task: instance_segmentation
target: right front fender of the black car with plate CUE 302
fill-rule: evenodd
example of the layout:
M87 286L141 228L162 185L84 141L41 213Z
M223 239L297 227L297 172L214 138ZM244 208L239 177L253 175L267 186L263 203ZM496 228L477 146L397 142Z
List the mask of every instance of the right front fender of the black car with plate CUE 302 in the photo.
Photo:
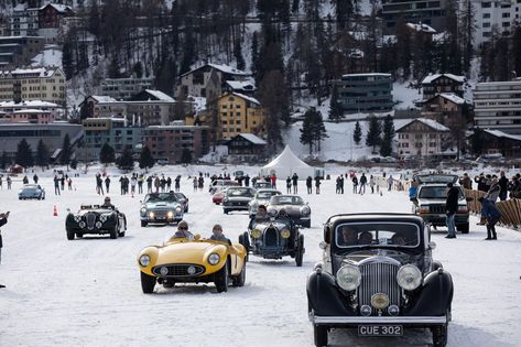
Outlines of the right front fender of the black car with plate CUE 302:
M451 274L437 269L428 273L417 297L412 305L404 311L411 316L442 316L451 307L454 294L453 279Z

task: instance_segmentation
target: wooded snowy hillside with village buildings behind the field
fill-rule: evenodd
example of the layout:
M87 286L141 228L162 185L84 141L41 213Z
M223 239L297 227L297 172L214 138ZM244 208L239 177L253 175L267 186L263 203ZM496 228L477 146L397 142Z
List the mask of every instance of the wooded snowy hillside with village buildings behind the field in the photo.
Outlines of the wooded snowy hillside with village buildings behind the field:
M2 167L521 153L519 0L6 2Z

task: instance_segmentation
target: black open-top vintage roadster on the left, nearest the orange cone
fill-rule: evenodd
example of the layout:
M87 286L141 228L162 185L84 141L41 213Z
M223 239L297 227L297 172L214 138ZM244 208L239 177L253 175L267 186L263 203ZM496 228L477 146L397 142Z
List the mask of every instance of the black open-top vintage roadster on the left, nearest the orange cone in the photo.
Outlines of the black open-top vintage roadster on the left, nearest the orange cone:
M127 230L124 214L110 207L82 205L76 214L68 213L65 219L67 239L83 237L85 234L110 235L111 239L123 237Z

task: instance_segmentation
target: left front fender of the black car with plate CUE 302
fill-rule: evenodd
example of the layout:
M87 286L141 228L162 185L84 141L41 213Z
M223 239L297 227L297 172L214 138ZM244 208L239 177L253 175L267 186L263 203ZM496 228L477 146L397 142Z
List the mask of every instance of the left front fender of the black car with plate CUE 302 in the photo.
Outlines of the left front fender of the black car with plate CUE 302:
M307 276L307 302L318 316L352 316L355 310L336 285L335 276L324 271L313 271Z

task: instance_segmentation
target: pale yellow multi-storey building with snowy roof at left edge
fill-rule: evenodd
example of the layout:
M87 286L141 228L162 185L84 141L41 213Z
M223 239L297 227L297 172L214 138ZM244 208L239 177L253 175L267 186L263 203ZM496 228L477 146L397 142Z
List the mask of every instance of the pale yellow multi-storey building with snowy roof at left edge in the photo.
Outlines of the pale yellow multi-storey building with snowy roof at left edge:
M42 100L65 105L65 74L56 68L0 72L0 101Z

